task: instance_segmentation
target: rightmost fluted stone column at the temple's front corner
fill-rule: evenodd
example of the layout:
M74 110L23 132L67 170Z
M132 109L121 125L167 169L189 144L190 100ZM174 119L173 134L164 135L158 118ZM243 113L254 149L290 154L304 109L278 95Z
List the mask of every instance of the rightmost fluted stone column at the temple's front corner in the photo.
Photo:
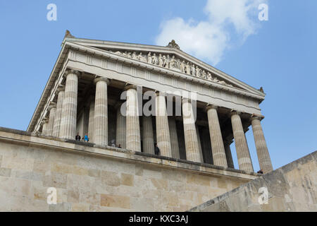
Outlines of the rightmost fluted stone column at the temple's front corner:
M251 124L254 135L254 142L256 144L256 153L259 158L260 168L264 173L271 172L273 170L270 154L268 153L268 147L266 146L266 139L264 138L263 129L261 126L261 119L263 117L252 116Z

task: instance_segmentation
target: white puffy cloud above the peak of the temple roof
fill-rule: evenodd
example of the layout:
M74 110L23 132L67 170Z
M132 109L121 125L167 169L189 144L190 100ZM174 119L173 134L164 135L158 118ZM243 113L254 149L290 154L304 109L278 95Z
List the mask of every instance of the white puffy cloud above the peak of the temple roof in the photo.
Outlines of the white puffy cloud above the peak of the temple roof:
M266 0L208 0L204 8L206 21L185 21L179 17L165 20L156 44L164 46L173 39L183 51L216 65L234 44L232 40L242 44L256 32L257 8L261 3Z

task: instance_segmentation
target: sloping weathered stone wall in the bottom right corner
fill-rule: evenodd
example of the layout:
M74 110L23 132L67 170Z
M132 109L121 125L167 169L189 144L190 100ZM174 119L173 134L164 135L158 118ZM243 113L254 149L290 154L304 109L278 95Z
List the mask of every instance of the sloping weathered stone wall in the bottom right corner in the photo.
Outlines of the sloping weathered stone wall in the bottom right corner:
M259 203L261 187L267 188L267 204ZM190 211L317 211L317 151Z

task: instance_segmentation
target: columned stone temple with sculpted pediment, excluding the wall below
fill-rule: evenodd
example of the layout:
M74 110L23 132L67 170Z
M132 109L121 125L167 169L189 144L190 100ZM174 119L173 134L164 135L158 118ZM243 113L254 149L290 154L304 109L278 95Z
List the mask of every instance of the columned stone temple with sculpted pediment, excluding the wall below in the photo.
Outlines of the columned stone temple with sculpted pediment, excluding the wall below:
M87 134L95 145L149 154L157 143L162 156L253 172L245 136L251 126L260 168L273 170L261 127L262 88L182 52L174 40L160 47L66 32L62 46L27 131L68 140ZM149 91L154 95L144 98ZM147 99L156 114L142 114Z

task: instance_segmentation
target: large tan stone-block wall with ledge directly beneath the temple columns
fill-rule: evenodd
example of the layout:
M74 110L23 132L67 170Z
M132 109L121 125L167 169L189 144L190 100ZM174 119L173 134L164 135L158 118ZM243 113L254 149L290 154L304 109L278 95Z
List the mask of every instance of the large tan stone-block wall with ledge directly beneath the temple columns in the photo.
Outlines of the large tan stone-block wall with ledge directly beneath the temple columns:
M0 211L184 211L257 177L0 127Z

